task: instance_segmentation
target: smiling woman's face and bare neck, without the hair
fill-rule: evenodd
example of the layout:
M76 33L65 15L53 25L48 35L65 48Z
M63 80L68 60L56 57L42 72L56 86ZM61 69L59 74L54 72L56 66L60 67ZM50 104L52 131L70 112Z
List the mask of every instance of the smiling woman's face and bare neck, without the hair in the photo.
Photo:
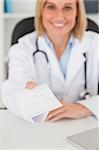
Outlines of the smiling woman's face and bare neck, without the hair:
M56 54L59 52L59 48L60 52L63 53L61 46L64 50L67 45L76 22L76 7L75 0L71 0L71 2L48 0L44 6L42 24L54 45ZM60 56L58 57L60 58Z

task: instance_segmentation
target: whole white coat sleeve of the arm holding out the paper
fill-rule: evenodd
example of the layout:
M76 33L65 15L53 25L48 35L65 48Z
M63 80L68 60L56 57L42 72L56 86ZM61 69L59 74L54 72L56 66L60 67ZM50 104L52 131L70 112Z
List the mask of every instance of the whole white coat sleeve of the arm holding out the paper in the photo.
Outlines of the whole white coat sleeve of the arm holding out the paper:
M9 52L8 80L2 85L2 99L7 109L17 116L31 121L27 118L27 112L21 114L17 105L18 91L25 87L27 81L36 80L35 68L32 58L32 50L23 44L16 44Z

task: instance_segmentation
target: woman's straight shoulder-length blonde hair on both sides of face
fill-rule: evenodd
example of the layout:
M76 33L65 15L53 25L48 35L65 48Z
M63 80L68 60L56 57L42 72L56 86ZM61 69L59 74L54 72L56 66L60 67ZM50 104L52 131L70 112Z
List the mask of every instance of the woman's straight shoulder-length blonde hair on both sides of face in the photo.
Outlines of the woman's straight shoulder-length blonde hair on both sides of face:
M45 34L45 29L42 23L42 12L46 0L37 0L36 2L36 16L35 16L35 29L38 36L43 36ZM77 18L76 24L73 28L73 35L79 40L82 39L84 31L86 30L87 20L85 14L85 7L83 0L77 0Z

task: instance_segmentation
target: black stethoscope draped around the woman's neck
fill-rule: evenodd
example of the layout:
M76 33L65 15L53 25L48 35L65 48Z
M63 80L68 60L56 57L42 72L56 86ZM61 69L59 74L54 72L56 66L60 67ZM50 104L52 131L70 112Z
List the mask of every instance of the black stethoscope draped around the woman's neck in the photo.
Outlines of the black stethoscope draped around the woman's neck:
M35 56L36 56L37 53L43 54L45 59L46 59L47 64L49 63L49 59L48 59L48 56L47 56L46 52L39 49L38 37L36 38L36 51L33 52L34 64L36 63L36 57ZM80 93L80 99L87 99L91 95L90 95L90 93L87 90L87 61L86 61L87 58L86 58L86 53L84 53L83 55L85 57L85 62L84 62L84 90Z

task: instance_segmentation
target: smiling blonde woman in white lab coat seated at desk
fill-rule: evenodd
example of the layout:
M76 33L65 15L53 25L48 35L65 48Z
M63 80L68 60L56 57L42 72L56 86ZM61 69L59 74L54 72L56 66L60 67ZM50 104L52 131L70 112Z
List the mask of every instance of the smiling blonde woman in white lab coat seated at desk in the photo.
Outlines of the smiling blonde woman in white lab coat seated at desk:
M47 120L98 118L99 35L85 31L83 0L37 0L35 27L36 32L22 37L10 50L6 106L20 115L11 84L34 88L47 83L63 103ZM36 44L45 54L35 54ZM91 97L81 98L86 88Z

